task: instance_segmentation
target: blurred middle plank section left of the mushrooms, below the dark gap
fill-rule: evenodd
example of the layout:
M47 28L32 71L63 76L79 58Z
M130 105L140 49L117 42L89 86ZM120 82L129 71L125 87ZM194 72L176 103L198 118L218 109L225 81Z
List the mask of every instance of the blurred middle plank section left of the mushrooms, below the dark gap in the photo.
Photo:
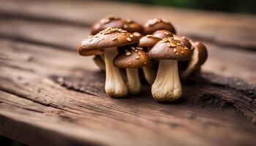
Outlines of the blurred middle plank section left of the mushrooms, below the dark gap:
M13 18L0 18L0 21L1 38L66 50L76 50L81 39L89 36L88 28Z

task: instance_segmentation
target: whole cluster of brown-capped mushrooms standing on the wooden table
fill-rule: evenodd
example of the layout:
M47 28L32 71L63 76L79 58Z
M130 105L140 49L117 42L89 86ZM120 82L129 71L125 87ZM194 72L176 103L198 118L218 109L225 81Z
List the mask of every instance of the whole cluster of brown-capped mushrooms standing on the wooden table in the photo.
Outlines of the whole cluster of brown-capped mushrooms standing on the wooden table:
M158 101L176 101L182 95L181 79L200 69L208 54L201 42L176 34L167 20L154 18L144 26L133 20L108 16L91 26L91 36L78 47L80 55L95 55L94 62L105 70L105 92L114 97L138 94L138 69L151 85ZM125 69L127 82L120 70Z

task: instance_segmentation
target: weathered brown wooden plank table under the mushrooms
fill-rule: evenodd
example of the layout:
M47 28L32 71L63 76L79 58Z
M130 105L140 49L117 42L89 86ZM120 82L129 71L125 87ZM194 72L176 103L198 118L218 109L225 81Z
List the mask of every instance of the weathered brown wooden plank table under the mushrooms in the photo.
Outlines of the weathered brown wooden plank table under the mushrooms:
M256 17L105 1L0 2L0 135L28 145L255 145ZM202 75L181 101L105 95L76 47L108 14L167 18L202 41Z

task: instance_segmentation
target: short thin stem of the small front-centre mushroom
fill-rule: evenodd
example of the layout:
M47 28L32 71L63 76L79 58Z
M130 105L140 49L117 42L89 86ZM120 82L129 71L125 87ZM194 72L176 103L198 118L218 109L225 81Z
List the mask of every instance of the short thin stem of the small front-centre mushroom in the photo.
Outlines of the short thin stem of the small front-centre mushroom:
M127 87L131 94L140 93L141 84L138 69L127 68Z

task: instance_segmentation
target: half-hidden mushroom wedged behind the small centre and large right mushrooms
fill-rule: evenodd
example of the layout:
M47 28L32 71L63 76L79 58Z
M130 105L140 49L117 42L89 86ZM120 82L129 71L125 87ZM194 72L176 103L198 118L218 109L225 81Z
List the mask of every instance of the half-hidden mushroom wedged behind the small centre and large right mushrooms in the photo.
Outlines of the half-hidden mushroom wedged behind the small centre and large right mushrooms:
M147 50L151 50L151 47L157 44L161 39L154 37L153 35L146 35L140 39L138 47L147 47ZM148 84L152 85L156 78L157 72L151 66L143 66L143 74L145 75Z

